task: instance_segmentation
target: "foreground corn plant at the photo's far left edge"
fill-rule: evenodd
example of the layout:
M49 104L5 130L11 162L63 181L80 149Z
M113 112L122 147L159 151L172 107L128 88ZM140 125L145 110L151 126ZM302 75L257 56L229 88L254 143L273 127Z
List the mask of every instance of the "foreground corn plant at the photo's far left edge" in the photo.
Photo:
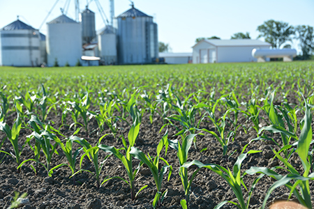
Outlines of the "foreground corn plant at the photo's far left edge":
M4 134L6 134L6 137L8 137L10 143L13 146L13 150L14 150L14 155L13 153L7 153L3 150L0 150L0 153L5 153L6 155L10 155L11 157L15 158L16 162L17 162L17 169L19 169L19 165L20 165L20 156L22 153L22 150L24 149L25 145L28 143L28 140L25 141L24 145L22 146L22 148L19 148L19 135L20 135L20 130L22 127L22 121L20 120L20 115L17 112L17 119L15 121L15 123L13 124L12 129L10 129L10 127L8 126L8 124L3 123L0 121L0 131L4 132ZM19 170L20 172L20 170Z

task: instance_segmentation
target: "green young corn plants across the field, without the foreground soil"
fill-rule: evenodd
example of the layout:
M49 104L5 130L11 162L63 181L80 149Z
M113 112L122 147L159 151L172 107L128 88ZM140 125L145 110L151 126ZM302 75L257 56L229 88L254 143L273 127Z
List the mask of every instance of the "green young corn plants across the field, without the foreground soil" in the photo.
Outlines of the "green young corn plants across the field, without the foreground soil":
M134 183L140 168L146 164L156 184L153 200L153 207L156 208L167 195L167 189L161 188L164 175L168 172L167 180L172 175L172 165L166 160L170 146L177 152L179 160L177 172L185 193L181 201L182 208L188 208L190 186L200 169L209 169L224 178L237 197L237 203L223 201L216 208L225 203L248 208L253 189L265 175L276 181L269 187L262 208L266 206L271 192L282 185L290 189L290 196L294 194L299 203L312 208L309 182L314 179L311 149L313 63L174 65L151 68L153 67L145 65L121 69L94 68L93 73L82 70L86 68L65 68L63 72L50 68L49 72L27 70L23 75L18 74L24 68L10 68L7 77L0 79L0 131L4 136L0 152L16 160L18 171L21 171L23 165L29 165L37 174L38 167L42 166L47 171L47 176L52 176L55 169L66 166L72 173L70 177L73 178L73 184L75 176L83 171L93 173L98 188L108 180L118 178L130 187L132 200L147 187L137 189ZM10 79L13 75L16 76L14 82ZM60 121L52 121L52 116ZM142 121L144 116L148 116L149 121ZM240 116L246 118L244 123L239 123ZM8 125L9 118L15 118L11 126ZM160 132L165 134L160 137L156 156L151 157L149 153L143 153L136 143L140 125L154 123L154 118L163 121ZM92 120L96 121L98 127L90 125ZM119 127L121 123L128 126L127 136ZM27 139L19 139L21 128L31 130ZM168 139L170 128L175 130L171 137L178 139ZM69 130L70 136L63 129ZM221 146L225 160L231 155L237 155L237 150L229 150L229 144L234 141L240 129L244 132L255 130L256 137L241 150L232 171L219 164L203 164L197 160L188 162L191 146L198 152L207 149L197 147L197 135L214 137ZM77 137L79 133L85 135L86 139ZM96 143L89 140L90 134L96 134ZM122 146L117 148L103 144L102 140L107 134L121 140ZM14 153L1 150L6 140L12 144ZM272 141L274 155L284 166L251 167L247 171L241 171L246 156L261 151L246 151L256 141ZM23 146L19 146L21 143ZM79 148L73 148L73 143ZM34 157L21 162L25 146L33 150ZM59 155L57 148L61 148L68 164L51 167L52 157ZM98 159L100 150L107 153L105 159ZM162 150L164 157L160 154ZM40 151L45 155L45 162L40 161ZM292 166L292 155L299 156L303 169ZM128 179L107 176L100 180L105 160L111 156L117 157L124 165ZM86 157L94 164L94 172L82 169ZM134 158L140 160L137 167L133 167ZM77 159L80 159L78 170ZM164 164L163 167L160 167L160 162ZM192 165L197 169L189 176L188 169L192 169ZM287 174L283 175L279 172L281 170ZM260 176L248 188L244 176L255 173L260 173ZM249 191L246 200L243 187Z

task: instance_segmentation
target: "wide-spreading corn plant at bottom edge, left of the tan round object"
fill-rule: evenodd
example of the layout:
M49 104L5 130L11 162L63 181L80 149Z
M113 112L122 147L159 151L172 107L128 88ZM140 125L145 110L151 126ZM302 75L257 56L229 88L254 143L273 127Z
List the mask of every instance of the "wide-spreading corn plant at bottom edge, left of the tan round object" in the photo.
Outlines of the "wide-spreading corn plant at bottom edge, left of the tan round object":
M193 178L196 176L196 173L198 171L200 171L200 169L202 169L202 168L207 168L211 171L214 171L215 173L217 173L219 176L221 176L222 178L224 178L227 181L228 185L230 185L235 196L237 196L239 203L235 203L234 201L223 201L223 202L219 203L214 209L221 208L226 203L232 203L232 204L234 204L234 206L237 206L237 208L239 208L239 209L248 209L248 206L250 206L249 204L250 204L251 196L253 193L253 189L257 185L258 181L264 176L264 174L261 174L260 176L255 178L255 180L253 181L253 184L251 186L250 192L248 194L248 199L247 199L247 201L245 201L241 185L243 185L246 190L248 190L248 189L246 188L246 185L244 185L243 177L241 176L241 164L246 159L246 156L248 154L259 153L261 151L250 150L250 151L248 151L248 153L243 153L243 152L244 152L244 150L242 150L242 154L239 155L237 162L235 162L235 164L233 166L233 171L230 171L229 168L225 169L224 167L222 167L218 164L202 164L202 162L197 161L197 160L193 160L192 162L186 162L181 166L182 168L185 168L185 169L188 169L188 167L190 167L192 165L196 165L198 167L198 169L196 171L194 171L193 176L192 176L190 181L193 180ZM183 204L185 204L185 202L183 202Z

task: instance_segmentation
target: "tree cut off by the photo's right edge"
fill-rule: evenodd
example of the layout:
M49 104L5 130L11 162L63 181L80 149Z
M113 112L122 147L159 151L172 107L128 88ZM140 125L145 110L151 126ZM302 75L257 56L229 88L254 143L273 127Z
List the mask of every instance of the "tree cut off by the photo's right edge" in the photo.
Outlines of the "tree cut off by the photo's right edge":
M314 34L312 26L299 25L296 27L296 39L300 42L302 51L301 59L310 59L311 52L314 52Z

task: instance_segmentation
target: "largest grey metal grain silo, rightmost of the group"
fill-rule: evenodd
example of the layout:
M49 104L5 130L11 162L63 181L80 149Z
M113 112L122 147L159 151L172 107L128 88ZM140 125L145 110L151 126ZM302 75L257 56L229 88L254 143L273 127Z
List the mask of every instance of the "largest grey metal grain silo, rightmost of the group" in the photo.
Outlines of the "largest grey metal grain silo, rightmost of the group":
M119 63L152 63L158 58L158 29L153 17L132 5L117 22Z

